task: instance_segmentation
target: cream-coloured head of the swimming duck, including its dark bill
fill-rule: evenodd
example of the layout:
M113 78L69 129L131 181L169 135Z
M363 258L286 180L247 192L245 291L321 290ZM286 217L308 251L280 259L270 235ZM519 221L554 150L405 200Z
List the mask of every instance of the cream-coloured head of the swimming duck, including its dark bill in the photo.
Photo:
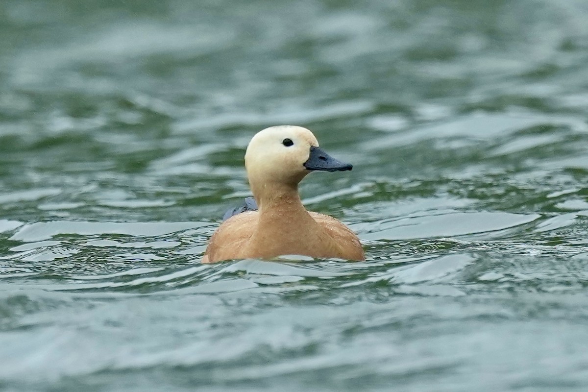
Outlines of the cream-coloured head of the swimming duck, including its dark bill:
M313 170L351 170L319 148L315 135L306 128L278 125L256 133L245 152L249 183L296 185Z

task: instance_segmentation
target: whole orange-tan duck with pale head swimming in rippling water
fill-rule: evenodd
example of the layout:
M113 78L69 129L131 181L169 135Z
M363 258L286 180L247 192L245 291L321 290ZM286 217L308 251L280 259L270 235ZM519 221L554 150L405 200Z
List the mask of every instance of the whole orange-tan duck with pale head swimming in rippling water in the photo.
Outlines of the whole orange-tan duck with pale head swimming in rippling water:
M202 263L284 255L365 260L358 236L329 215L307 211L298 185L312 172L352 170L319 147L310 130L278 125L260 130L245 152L253 199L230 209L212 234Z

